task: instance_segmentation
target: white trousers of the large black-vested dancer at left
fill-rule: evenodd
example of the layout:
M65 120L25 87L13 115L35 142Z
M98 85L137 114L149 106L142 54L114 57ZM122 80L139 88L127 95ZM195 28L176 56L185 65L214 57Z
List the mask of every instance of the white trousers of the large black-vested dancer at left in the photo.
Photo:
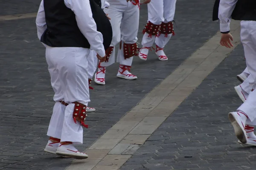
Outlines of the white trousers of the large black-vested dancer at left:
M56 102L47 135L61 142L83 143L83 128L73 120L74 106L72 102L87 105L90 102L88 85L88 62L90 50L87 48L46 47L46 60L51 77L53 97ZM86 81L84 81L86 80ZM58 101L65 101L64 106Z

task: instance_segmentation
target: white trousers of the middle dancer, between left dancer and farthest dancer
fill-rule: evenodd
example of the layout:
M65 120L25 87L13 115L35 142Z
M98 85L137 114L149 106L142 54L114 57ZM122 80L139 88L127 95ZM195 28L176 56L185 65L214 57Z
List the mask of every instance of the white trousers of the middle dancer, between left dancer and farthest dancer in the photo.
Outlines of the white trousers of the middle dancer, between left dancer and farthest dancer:
M110 46L117 45L120 40L127 44L137 42L137 34L139 29L140 10L138 6L133 5L126 0L108 0L109 8L104 11L111 18L110 23L113 30L113 39ZM123 48L119 49L117 54L117 62L121 65L131 66L133 57L125 59ZM108 62L101 62L102 67L107 67L115 62L115 48L109 57Z

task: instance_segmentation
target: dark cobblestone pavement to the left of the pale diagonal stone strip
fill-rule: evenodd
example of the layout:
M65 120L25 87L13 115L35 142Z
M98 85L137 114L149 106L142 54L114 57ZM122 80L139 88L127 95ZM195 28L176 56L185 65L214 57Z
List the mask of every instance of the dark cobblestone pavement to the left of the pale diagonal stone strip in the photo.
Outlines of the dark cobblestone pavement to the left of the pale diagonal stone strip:
M39 3L0 0L0 15L36 12ZM132 73L139 77L137 80L116 78L118 64L114 64L107 69L105 86L93 84L90 106L97 111L88 116L90 128L84 130L80 150L93 144L216 33L218 23L211 21L212 5L209 1L202 4L201 0L178 0L176 35L165 50L168 62L158 61L151 53L147 62L134 59ZM142 31L147 20L146 6L141 6L140 19ZM138 38L141 41L141 33ZM35 18L0 22L0 58L0 170L63 170L72 159L43 152L54 102Z

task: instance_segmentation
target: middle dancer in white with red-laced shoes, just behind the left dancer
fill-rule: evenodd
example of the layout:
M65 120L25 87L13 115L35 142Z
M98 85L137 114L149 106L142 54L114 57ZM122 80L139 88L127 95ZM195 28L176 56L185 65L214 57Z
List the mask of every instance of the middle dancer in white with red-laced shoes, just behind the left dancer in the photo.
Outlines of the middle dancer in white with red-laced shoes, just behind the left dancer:
M106 50L106 61L99 63L94 81L99 85L105 85L106 68L115 62L115 45L119 44L117 62L119 70L117 77L134 80L137 76L131 74L133 56L137 53L137 33L139 29L140 1L139 0L107 0L109 8L104 11L111 18L113 39ZM149 3L146 0L144 3Z

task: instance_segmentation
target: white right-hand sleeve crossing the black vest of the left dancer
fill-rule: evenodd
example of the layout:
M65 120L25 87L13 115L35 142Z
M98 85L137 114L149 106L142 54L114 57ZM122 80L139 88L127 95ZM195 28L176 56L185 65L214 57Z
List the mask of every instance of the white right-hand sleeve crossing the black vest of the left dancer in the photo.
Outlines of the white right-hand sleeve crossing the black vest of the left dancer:
M90 43L90 48L99 56L105 56L103 46L103 36L97 31L96 23L93 20L93 14L90 8L89 0L64 0L67 8L70 8L76 15L77 26L81 33Z

